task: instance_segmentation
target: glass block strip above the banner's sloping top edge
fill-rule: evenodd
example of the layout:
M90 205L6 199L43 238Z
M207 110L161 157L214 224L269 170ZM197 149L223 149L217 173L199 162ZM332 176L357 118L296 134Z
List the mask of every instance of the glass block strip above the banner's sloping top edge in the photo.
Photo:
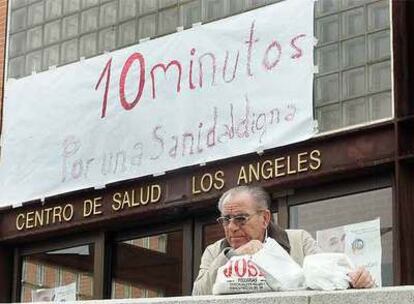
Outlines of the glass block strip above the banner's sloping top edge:
M238 0L242 10L232 13L234 0L12 0L8 77L20 78L278 1ZM223 16L207 15L213 4ZM134 39L124 41L129 37L121 31L128 23Z

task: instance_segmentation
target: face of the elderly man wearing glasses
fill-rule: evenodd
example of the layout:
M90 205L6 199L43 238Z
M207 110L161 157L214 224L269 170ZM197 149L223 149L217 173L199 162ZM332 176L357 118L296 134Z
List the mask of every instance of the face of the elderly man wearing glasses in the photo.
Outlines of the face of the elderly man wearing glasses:
M237 249L251 240L262 241L270 220L270 211L259 211L251 195L241 192L228 199L222 210L222 216L238 215L249 216L244 225L237 225L233 220L228 225L223 225L230 246Z

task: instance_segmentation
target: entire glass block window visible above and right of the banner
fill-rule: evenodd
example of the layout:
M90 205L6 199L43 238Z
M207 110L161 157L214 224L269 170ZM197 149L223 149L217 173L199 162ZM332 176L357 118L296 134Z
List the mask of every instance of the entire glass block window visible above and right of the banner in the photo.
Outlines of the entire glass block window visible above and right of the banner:
M19 78L284 0L11 0L8 77ZM321 132L392 116L389 0L315 2Z

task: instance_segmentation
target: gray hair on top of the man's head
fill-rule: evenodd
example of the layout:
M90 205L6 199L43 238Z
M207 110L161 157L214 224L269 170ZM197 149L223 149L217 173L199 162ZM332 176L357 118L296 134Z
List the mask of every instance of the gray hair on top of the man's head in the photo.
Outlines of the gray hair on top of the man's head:
M257 203L257 209L269 209L270 208L270 196L262 187L254 186L239 186L227 190L220 197L218 202L218 209L223 212L223 206L236 194L247 193L253 197L253 200Z

